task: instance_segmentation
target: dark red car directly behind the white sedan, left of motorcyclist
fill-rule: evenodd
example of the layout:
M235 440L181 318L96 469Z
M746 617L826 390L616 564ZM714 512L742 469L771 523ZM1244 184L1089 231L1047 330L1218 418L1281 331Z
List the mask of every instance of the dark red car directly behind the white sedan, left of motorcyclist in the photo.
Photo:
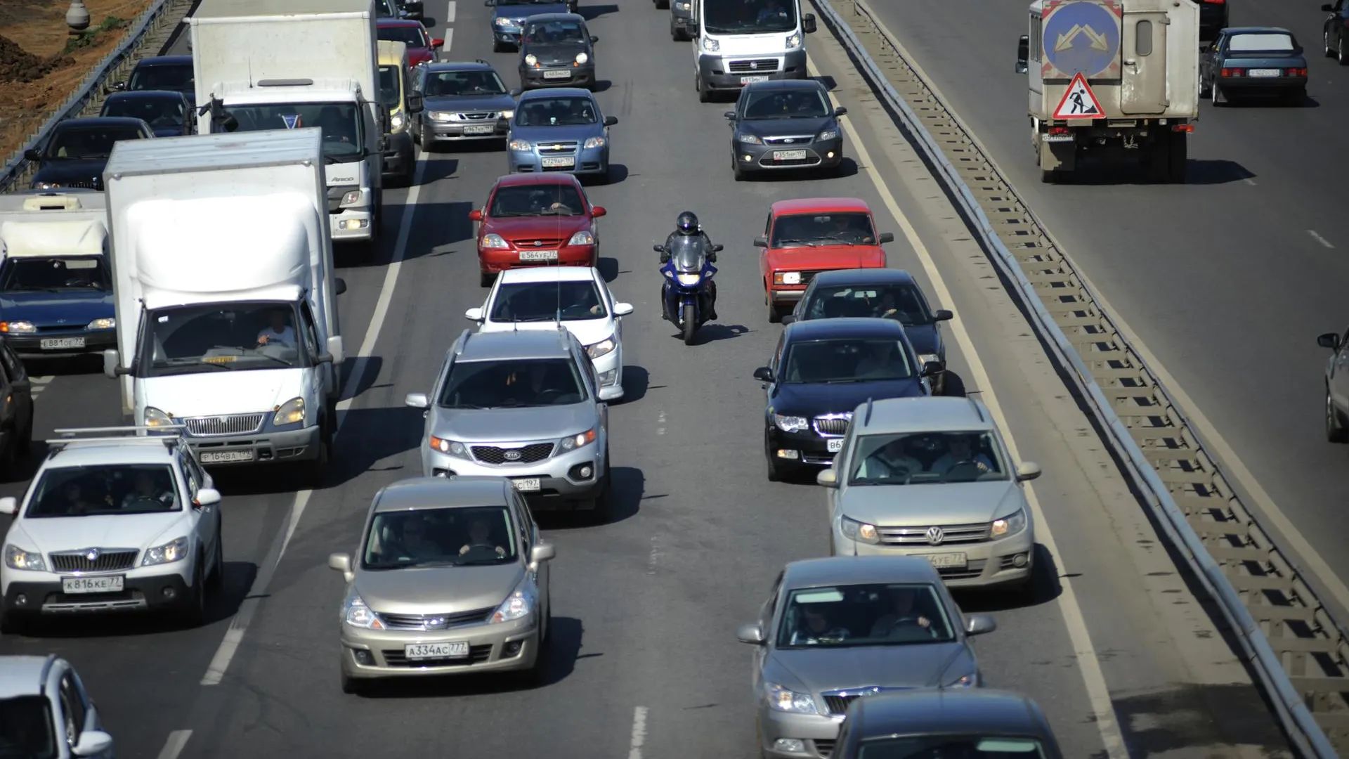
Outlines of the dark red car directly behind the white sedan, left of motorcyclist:
M599 228L606 213L591 205L581 182L564 173L507 174L492 185L487 204L469 212L478 221L482 285L519 266L596 266Z

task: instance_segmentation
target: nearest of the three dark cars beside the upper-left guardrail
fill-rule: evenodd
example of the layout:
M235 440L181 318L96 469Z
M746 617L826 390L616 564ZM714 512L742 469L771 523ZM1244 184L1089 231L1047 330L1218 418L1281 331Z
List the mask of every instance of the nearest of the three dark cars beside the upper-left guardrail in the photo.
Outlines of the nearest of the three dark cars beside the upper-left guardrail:
M47 145L30 147L23 157L38 163L32 189L103 189L103 169L112 146L124 139L155 136L150 124L125 116L67 119L51 130Z

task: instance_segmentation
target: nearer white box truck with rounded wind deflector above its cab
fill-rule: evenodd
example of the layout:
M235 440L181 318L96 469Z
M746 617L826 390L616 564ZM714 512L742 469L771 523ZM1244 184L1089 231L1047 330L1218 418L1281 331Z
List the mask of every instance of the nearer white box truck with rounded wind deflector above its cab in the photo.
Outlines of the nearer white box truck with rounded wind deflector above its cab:
M343 362L317 128L125 140L104 173L123 413L317 477Z

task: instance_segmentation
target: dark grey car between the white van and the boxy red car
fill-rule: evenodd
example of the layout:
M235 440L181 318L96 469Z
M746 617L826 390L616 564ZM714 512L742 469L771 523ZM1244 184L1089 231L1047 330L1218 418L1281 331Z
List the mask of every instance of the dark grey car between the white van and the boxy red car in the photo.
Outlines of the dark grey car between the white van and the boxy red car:
M843 161L838 117L815 80L774 80L745 85L731 122L731 172L735 181L774 169L836 170Z

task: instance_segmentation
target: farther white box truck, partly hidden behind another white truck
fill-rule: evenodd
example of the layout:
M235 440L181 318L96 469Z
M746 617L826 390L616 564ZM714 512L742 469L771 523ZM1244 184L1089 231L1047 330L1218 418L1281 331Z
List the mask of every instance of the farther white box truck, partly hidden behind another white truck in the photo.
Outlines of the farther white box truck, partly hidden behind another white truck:
M188 23L198 134L321 128L332 238L372 257L390 131L374 0L202 0Z

